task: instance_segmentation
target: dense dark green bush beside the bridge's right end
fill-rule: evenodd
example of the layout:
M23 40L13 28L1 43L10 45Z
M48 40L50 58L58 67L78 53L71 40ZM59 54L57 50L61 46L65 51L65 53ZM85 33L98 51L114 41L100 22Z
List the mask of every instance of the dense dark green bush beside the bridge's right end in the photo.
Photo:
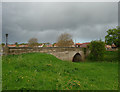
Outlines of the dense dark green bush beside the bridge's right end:
M105 54L105 43L101 40L99 41L91 41L89 46L91 60L103 60Z

